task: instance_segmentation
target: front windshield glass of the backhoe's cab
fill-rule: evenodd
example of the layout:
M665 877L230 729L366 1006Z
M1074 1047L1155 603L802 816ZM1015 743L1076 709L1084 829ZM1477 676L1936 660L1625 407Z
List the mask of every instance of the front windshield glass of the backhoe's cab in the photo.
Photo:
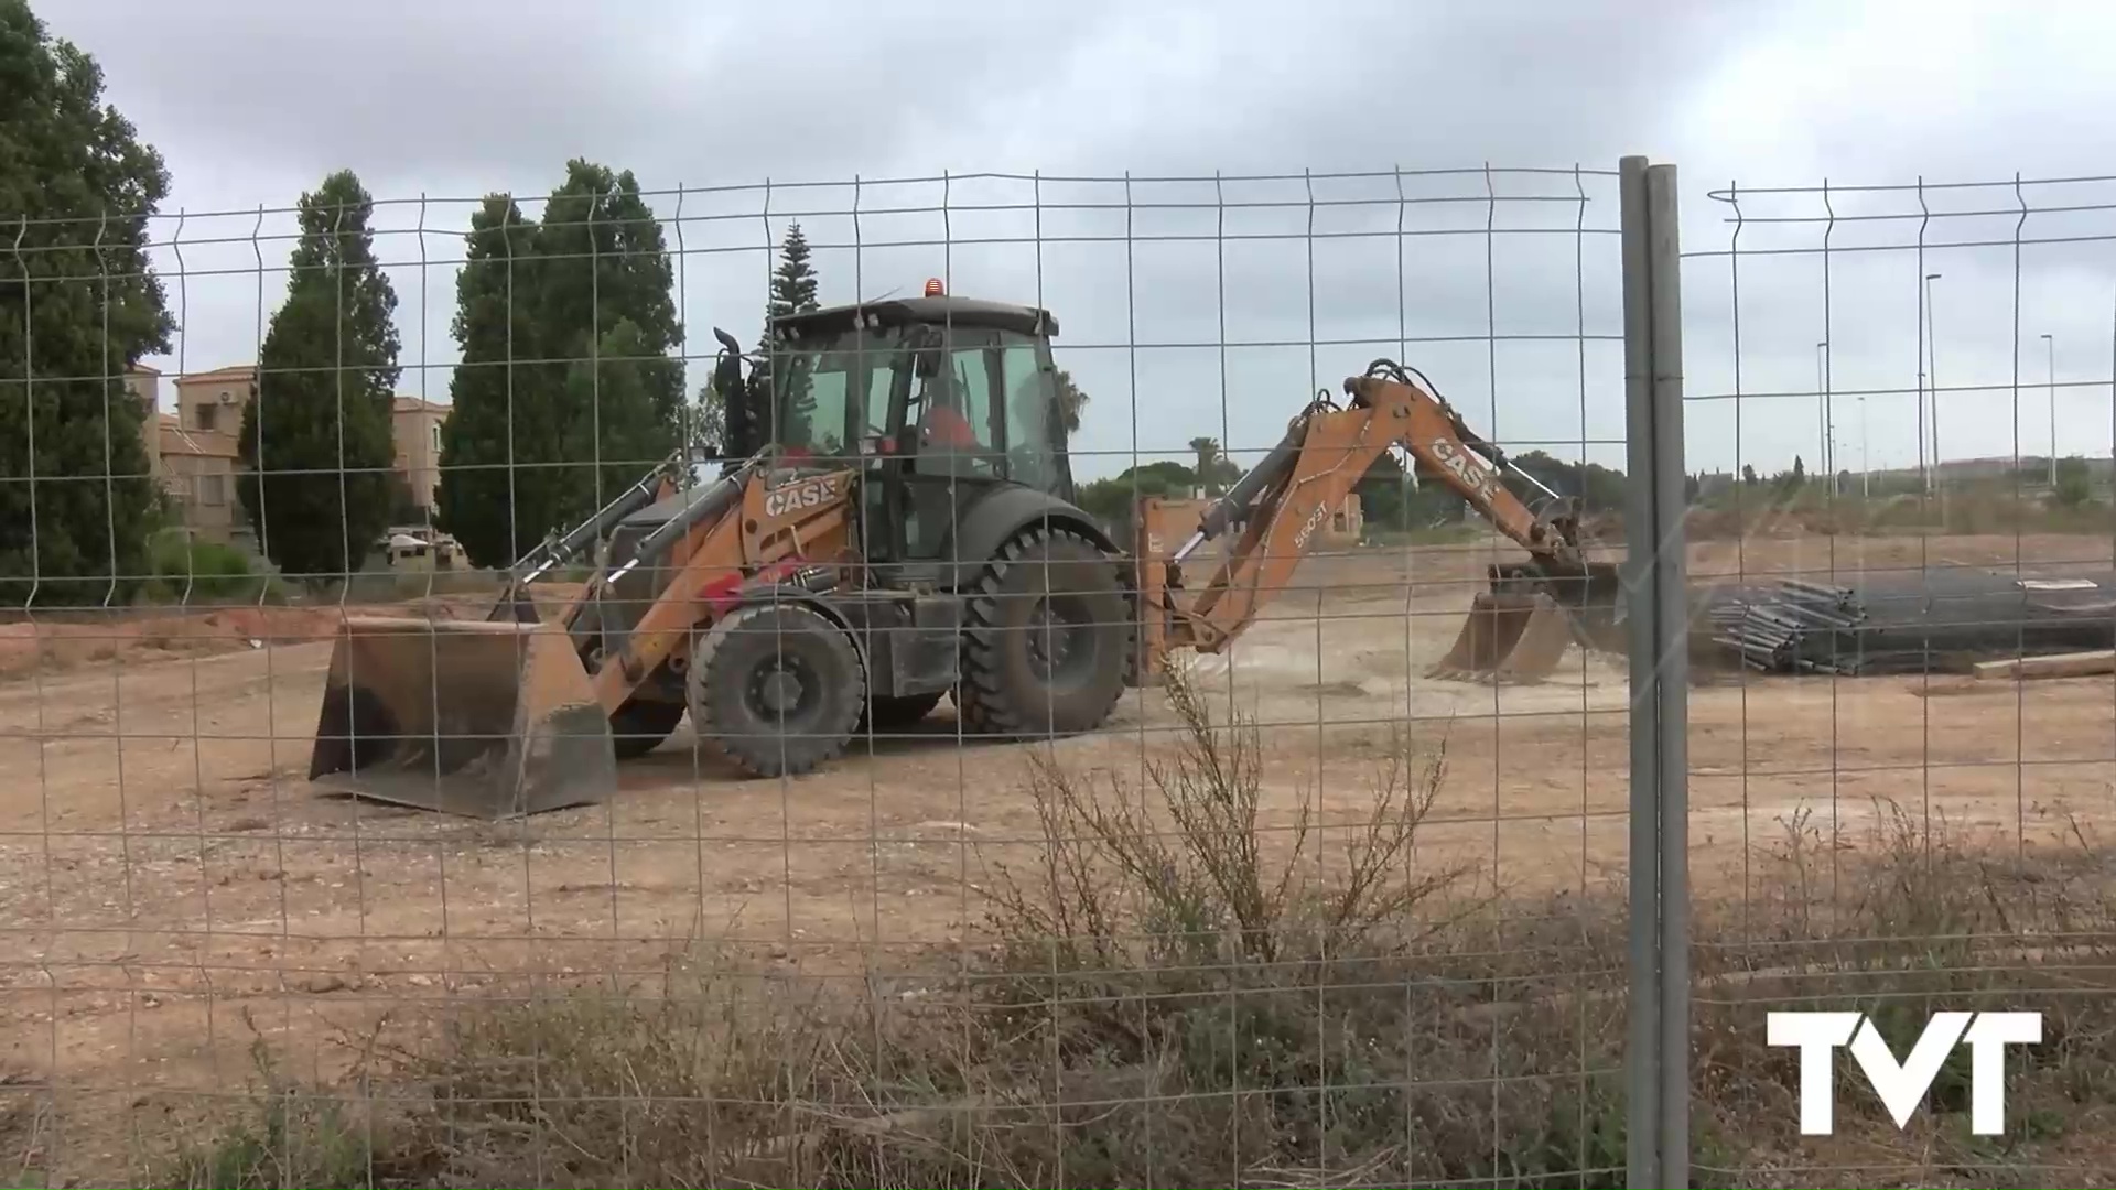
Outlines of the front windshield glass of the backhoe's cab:
M846 330L817 347L774 351L772 440L827 459L872 449L887 434L889 379L901 360L897 328Z

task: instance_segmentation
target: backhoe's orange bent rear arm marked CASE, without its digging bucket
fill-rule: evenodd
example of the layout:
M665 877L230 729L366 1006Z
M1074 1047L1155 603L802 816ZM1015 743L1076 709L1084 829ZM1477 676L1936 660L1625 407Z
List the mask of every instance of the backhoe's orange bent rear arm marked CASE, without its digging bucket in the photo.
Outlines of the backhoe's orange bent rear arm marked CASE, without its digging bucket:
M1204 510L1198 529L1172 557L1164 553L1166 536L1153 523L1151 508L1141 519L1147 623L1143 661L1151 665L1168 648L1219 652L1232 644L1263 603L1287 587L1316 531L1390 447L1409 451L1420 476L1452 487L1538 561L1576 565L1570 525L1540 521L1530 512L1500 483L1504 455L1477 438L1447 402L1413 383L1401 366L1375 362L1367 375L1346 379L1344 387L1352 398L1348 409L1325 398L1312 402L1293 419L1278 447ZM1183 587L1183 561L1236 527L1240 538L1196 599L1172 599L1170 593Z

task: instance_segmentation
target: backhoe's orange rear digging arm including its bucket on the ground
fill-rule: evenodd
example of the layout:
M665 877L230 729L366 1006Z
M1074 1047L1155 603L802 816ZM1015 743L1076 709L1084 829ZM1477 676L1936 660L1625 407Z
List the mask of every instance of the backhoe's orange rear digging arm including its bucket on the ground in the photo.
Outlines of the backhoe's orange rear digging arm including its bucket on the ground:
M1420 476L1445 483L1530 555L1528 565L1494 567L1494 591L1477 597L1471 623L1433 673L1532 680L1549 671L1581 635L1566 608L1606 595L1617 582L1615 567L1581 557L1570 504L1543 489L1553 495L1553 515L1530 510L1502 481L1504 453L1399 364L1378 360L1367 375L1346 379L1344 390L1348 407L1325 396L1310 402L1270 455L1204 508L1174 553L1166 548L1172 538L1166 506L1145 504L1138 555L1149 667L1170 648L1227 648L1287 589L1316 531L1373 462L1401 447ZM1526 470L1513 474L1543 487ZM1176 599L1183 563L1229 531L1236 540L1212 576L1193 597Z

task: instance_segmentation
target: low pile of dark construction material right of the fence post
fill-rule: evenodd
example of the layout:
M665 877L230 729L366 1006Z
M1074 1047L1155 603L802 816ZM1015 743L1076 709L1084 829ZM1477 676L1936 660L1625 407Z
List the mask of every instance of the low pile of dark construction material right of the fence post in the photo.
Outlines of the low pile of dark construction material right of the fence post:
M1693 595L1693 652L1765 673L1928 673L2112 648L2116 574L1913 570Z

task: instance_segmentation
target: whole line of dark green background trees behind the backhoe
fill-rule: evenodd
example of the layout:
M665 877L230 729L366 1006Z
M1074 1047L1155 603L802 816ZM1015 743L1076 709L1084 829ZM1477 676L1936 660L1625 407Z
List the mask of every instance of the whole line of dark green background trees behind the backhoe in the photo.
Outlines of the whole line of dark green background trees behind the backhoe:
M0 286L0 587L11 603L32 593L123 601L148 570L159 510L148 481L157 411L129 400L123 377L169 351L174 318L148 260L148 218L169 174L104 102L95 61L53 38L28 0L0 0L0 161L28 163L0 172L0 212L21 220L19 284ZM375 199L351 169L300 195L286 288L243 402L237 504L290 578L360 570L411 502L394 476L398 296L372 220ZM711 379L686 387L671 250L631 172L567 161L537 218L493 193L463 244L451 320L461 362L434 521L474 565L510 563L679 447L730 447L726 394ZM772 318L819 305L798 224L777 256L766 335ZM768 392L766 347L753 392ZM802 394L791 396L800 417ZM1062 430L1077 432L1088 394L1064 371L1054 400ZM1081 504L1119 521L1136 493L1217 495L1240 476L1217 438L1191 449L1191 464L1088 483ZM1602 468L1570 479L1606 487ZM1358 491L1375 525L1460 515L1443 487L1407 483L1394 457L1378 459Z

